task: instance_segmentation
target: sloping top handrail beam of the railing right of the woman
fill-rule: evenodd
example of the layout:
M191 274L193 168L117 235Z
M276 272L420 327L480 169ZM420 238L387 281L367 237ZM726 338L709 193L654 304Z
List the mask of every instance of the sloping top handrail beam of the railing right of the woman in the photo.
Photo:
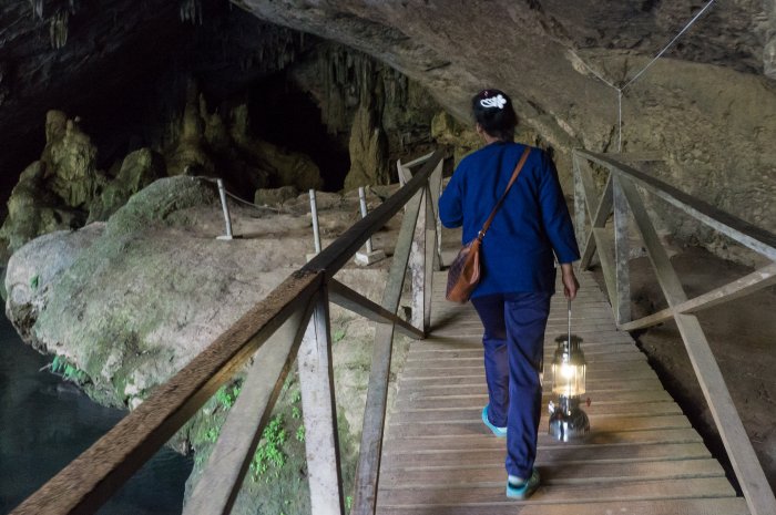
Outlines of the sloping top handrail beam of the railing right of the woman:
M736 218L643 172L617 163L607 155L585 151L578 152L610 169L616 169L635 181L651 194L677 207L693 218L765 256L769 260L776 261L776 235L773 233Z

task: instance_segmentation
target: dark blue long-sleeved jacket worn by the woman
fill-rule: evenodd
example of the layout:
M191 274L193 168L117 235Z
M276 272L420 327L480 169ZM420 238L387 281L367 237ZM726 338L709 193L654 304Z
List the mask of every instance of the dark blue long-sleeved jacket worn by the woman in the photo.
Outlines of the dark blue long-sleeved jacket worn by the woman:
M439 198L445 227L477 237L509 183L524 145L497 142L464 157ZM532 148L481 246L482 279L472 297L554 292L558 262L580 258L569 209L552 159Z

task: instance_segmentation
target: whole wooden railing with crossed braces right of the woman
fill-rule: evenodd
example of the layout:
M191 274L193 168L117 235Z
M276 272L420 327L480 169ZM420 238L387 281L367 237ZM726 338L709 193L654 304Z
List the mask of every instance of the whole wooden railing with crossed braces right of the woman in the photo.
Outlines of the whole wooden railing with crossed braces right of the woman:
M609 172L600 195L595 188L590 162ZM746 435L701 325L691 313L776 284L776 236L622 164L612 155L575 151L573 166L576 237L583 245L581 268L589 268L592 257L598 253L609 299L620 329L642 329L674 319L749 511L753 515L775 514L774 493ZM728 285L688 299L644 207L640 189L760 254L770 264ZM666 309L639 320L631 320L629 212L641 233L668 305ZM613 239L605 229L611 215Z

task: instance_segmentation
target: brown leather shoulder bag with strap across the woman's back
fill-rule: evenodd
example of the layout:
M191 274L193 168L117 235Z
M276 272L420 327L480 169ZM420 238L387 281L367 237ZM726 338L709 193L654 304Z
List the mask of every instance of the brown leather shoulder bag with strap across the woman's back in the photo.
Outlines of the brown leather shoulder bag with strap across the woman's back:
M477 233L477 237L474 239L466 244L463 248L458 251L458 256L456 256L456 259L453 259L450 264L450 268L447 272L447 293L445 296L445 298L447 298L449 301L460 303L466 302L469 300L471 292L474 291L474 288L477 288L477 285L479 285L481 276L480 244L482 243L482 237L490 228L490 224L493 222L496 212L499 210L504 198L507 198L509 188L511 188L512 184L514 184L514 182L518 179L518 175L520 175L520 171L525 164L525 159L530 153L531 147L527 146L523 151L523 155L518 162L518 165L514 167L512 178L509 179L507 189L504 189L504 193L501 195L501 198L499 198L499 202L496 203L496 207L493 207L490 216L482 225L482 229Z

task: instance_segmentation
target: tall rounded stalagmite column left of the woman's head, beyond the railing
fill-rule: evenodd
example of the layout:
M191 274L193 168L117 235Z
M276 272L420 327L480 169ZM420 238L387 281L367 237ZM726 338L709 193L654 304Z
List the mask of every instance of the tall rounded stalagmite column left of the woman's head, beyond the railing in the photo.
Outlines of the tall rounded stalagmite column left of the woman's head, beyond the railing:
M356 111L350 131L350 172L345 177L345 190L388 184L388 143L368 104L363 103Z

